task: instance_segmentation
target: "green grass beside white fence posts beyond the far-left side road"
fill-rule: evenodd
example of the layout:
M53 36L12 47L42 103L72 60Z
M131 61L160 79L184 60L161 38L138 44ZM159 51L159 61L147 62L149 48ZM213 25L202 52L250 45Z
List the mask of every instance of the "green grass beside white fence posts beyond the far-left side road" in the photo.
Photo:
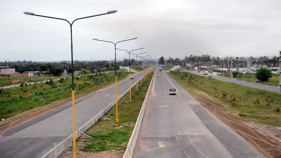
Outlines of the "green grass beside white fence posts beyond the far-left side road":
M54 79L56 79L56 78L60 78L60 77L54 77ZM31 80L29 77L3 77L3 76L1 76L0 77L0 87L20 84L20 83L14 83L14 84L11 83L11 80L17 80L17 79L21 80L20 83L25 83L25 82L34 82L34 79L37 82L43 81L44 77L34 77L34 79ZM45 80L49 80L49 79L45 79Z

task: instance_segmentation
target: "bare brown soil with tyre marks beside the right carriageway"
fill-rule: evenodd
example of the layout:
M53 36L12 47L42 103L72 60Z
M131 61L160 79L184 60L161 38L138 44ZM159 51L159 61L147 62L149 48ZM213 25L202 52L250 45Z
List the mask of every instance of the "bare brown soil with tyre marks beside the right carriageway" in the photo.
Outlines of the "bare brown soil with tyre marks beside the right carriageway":
M198 97L196 95L192 95L192 97L200 102L202 106L215 115L221 122L229 126L229 128L240 135L240 137L249 142L262 153L262 155L268 158L281 157L281 142L227 113L222 109L221 104L214 103L204 97Z

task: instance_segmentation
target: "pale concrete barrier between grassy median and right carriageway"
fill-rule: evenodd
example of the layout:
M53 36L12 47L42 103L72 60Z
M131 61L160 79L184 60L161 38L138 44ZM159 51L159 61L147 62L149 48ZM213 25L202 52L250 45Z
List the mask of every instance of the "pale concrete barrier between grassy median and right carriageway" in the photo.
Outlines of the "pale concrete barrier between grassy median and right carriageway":
M146 103L147 103L147 100L148 100L149 91L150 91L150 88L151 88L151 85L152 85L152 81L154 80L154 75L155 75L155 73L153 74L152 80L150 81L149 87L147 89L147 93L145 95L145 100L143 101L143 105L140 109L140 113L138 114L138 119L136 121L134 131L133 131L133 133L130 137L130 140L129 140L129 143L127 145L127 149L126 149L126 151L123 155L123 158L132 158L133 157L134 148L135 148L136 141L137 141L137 138L138 138L138 132L140 131L140 125L141 125L141 122L143 120L143 115L144 115Z

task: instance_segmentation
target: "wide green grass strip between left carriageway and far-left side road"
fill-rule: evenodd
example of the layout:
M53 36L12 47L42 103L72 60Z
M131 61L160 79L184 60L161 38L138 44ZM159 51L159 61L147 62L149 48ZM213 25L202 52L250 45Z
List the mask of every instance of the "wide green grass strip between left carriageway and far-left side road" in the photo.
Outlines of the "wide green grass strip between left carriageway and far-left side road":
M127 72L118 72L117 80L129 75ZM120 77L119 77L120 76ZM94 86L99 81L100 86ZM115 82L115 72L76 77L74 79L75 95L93 92ZM63 83L53 81L53 84L38 83L1 89L0 91L0 119L12 117L23 111L50 104L56 100L70 97L72 80L67 78Z

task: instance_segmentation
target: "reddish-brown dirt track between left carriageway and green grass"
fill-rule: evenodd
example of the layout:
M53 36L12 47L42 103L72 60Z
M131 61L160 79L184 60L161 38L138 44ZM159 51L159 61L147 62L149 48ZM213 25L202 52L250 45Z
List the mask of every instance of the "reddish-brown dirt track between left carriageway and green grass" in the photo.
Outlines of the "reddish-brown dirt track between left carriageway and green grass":
M84 96L89 95L91 93L93 93L93 92L88 92L88 93L84 93L84 94L75 95L74 99L77 100L77 99L83 98ZM46 108L43 108L43 109L41 109L39 111L33 111L31 113L28 113L27 115L24 115L23 117L20 117L17 120L14 120L12 122L0 125L0 131L3 131L5 129L7 129L7 128L10 128L10 127L15 126L17 124L25 122L25 121L33 118L33 117L39 116L39 115L41 115L43 113L46 113L46 112L51 111L53 109L56 109L56 108L58 108L60 106L63 106L65 104L67 104L67 103L70 103L70 102L72 102L72 97L69 97L69 98L63 100L62 102L58 102L58 103L56 103L54 105L48 106Z

